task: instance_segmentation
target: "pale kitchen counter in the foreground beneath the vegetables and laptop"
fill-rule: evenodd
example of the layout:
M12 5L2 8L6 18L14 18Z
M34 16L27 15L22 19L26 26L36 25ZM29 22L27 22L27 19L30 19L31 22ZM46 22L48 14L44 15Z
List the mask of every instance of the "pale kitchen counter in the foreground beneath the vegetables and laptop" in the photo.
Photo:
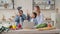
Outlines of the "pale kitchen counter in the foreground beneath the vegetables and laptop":
M2 34L59 34L60 29L38 31L36 29L21 29L21 30L10 30L3 32Z

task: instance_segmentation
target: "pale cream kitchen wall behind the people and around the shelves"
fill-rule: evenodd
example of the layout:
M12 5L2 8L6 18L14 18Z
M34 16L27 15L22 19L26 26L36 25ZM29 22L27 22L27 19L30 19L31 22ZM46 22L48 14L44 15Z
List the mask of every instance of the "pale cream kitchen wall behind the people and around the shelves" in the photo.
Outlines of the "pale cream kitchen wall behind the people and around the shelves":
M60 0L56 0L56 8L60 7L59 1ZM32 12L32 0L15 0L15 8L17 8L18 6L22 6L22 10L24 11L24 14L26 14L27 9L30 13ZM41 11L45 17L51 17L51 13L55 13L54 10L49 10L49 11L41 10ZM16 9L0 10L0 19L2 18L3 14L6 16L6 18L10 18L11 16L16 15L16 13L17 13Z

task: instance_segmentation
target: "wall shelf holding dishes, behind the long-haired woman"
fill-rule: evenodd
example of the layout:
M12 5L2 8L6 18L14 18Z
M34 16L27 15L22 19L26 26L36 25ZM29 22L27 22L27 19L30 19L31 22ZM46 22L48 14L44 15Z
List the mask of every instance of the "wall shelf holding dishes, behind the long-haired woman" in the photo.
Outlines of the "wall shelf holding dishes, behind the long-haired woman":
M39 1L39 2L38 2ZM41 10L55 10L55 0L50 0L51 3L47 3L47 1L49 0L33 0L33 9L34 9L34 6L38 5L40 6L40 9ZM38 2L38 3L37 3ZM41 3L41 2L45 2L45 3Z

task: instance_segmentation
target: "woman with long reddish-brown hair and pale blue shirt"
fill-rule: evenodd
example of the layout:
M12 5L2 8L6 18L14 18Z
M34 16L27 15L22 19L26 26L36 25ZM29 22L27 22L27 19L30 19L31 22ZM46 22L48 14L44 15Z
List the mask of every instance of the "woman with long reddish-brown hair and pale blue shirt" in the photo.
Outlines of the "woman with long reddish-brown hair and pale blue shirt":
M43 23L44 18L43 18L43 14L40 11L40 7L39 6L35 6L34 10L37 13L36 19L37 19L38 24Z

